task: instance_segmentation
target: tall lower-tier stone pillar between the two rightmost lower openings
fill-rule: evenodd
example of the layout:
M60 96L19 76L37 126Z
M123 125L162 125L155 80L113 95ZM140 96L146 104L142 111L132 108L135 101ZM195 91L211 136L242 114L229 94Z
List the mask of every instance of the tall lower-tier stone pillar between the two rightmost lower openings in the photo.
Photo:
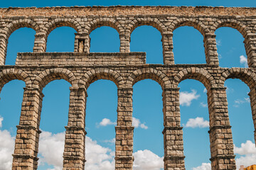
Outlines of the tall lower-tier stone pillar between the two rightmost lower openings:
M228 118L226 88L208 89L210 154L212 170L235 170L233 138Z

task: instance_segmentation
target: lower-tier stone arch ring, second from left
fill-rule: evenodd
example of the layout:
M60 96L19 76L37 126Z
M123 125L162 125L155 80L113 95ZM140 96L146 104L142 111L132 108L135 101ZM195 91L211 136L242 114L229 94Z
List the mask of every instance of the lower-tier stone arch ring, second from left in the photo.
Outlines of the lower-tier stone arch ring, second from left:
M72 86L75 84L75 76L73 72L68 69L63 68L55 68L55 69L46 69L41 72L33 82L33 85L37 86L37 88L43 90L43 88L50 83L50 81L56 79L65 79Z

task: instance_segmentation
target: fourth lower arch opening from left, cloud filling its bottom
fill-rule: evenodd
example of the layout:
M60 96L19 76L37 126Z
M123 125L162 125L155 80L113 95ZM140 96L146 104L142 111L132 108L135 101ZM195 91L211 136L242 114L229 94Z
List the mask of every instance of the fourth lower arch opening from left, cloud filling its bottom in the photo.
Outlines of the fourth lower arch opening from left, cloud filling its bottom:
M161 94L161 86L151 79L134 84L132 124L135 170L164 169L164 113ZM152 138L155 140L150 140Z

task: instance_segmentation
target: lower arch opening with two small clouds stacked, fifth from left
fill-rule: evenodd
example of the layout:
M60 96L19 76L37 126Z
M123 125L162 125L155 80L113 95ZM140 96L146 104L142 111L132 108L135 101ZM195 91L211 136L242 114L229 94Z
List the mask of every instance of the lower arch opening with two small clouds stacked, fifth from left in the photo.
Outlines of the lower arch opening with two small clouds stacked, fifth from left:
M181 81L178 87L186 169L211 169L206 87L193 79Z

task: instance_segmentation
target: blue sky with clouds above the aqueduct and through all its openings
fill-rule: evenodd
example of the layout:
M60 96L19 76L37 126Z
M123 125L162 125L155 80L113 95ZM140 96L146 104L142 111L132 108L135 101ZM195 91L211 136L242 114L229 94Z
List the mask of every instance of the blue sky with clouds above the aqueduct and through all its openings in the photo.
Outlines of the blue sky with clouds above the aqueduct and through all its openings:
M256 6L256 1L3 1L8 6ZM73 28L56 28L48 37L47 52L72 52L75 38ZM32 52L35 31L31 28L16 30L9 38L6 64L14 64L17 52ZM242 35L233 28L219 28L218 42L220 67L247 67ZM151 36L149 36L151 35ZM97 28L90 34L91 52L119 52L119 35L109 27ZM186 43L183 43L186 42ZM184 50L186 49L186 50ZM131 37L132 52L146 52L146 62L162 64L161 33L151 26L141 26ZM192 27L174 31L174 60L176 64L205 64L203 36ZM23 97L23 81L11 81L0 94L0 163L10 166L16 125L18 125ZM250 89L239 79L225 82L228 111L232 125L237 163L256 162ZM50 82L44 89L41 113L40 166L38 169L61 169L64 126L68 123L70 84L64 80ZM181 94L181 124L183 126L186 169L210 169L210 142L208 135L208 108L205 87L199 81L185 80L179 84ZM164 156L164 137L161 86L149 79L134 84L134 169L145 168L154 162L161 169ZM86 130L87 153L85 169L114 169L114 125L117 120L117 86L112 81L98 80L87 90ZM7 140L8 139L8 140ZM145 140L146 139L146 140ZM52 148L53 147L53 148ZM52 149L51 149L52 148ZM97 148L97 151L92 149ZM49 152L51 150L55 152ZM7 151L6 151L7 150ZM248 152L248 150L250 152ZM143 162L142 157L146 157ZM96 159L97 158L97 159ZM104 166L102 167L102 165ZM6 168L8 169L8 168ZM153 170L153 167L151 168ZM155 170L155 169L154 169Z

